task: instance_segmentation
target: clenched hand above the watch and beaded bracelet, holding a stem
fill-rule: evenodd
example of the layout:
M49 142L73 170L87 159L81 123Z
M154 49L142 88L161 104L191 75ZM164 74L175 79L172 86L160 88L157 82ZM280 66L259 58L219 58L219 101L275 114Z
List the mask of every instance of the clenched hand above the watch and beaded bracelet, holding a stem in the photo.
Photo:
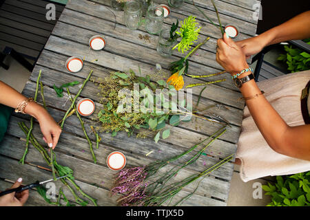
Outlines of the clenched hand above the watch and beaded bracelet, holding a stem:
M216 61L231 75L240 73L243 69L249 68L245 53L225 33L223 39L218 39Z

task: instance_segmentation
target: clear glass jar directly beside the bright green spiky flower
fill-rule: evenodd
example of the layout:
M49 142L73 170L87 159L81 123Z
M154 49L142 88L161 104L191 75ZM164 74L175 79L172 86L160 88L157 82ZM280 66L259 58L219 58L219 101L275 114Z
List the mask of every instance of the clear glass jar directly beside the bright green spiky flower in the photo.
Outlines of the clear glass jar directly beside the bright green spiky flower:
M170 30L163 29L161 34L159 34L157 52L163 57L169 57L172 55L172 48L176 45L176 39L174 41L169 41Z

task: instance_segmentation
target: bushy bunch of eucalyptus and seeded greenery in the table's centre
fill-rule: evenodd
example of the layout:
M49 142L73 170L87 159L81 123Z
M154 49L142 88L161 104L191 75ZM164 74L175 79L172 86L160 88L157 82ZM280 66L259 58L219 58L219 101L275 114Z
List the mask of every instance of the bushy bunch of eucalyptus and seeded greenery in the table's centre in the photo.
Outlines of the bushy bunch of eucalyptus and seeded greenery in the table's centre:
M165 80L152 82L150 76L136 76L130 70L127 74L114 72L98 82L103 109L94 121L100 124L96 126L99 132L112 133L113 137L118 131L126 131L128 136L136 132L137 137L146 137L155 131L158 142L170 135L166 124L177 126L180 121L191 120L192 96L184 99L184 92L177 92Z

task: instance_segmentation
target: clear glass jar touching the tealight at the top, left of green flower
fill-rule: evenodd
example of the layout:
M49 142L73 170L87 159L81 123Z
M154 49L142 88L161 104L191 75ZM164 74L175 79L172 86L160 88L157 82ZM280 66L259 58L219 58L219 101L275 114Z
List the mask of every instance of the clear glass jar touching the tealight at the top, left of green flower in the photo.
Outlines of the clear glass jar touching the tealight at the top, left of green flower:
M145 18L145 30L147 30L149 34L159 34L161 28L163 28L163 19L163 7L157 4L149 5Z

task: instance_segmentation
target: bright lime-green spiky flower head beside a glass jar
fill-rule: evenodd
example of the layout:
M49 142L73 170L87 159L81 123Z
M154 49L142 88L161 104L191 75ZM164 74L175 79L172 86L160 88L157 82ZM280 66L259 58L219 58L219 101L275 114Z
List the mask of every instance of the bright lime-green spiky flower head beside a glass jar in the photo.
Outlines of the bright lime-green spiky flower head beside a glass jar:
M181 51L182 54L184 54L184 52L191 48L191 45L196 43L201 29L198 28L197 25L196 17L189 16L183 21L180 31L176 32L176 34L182 37L182 40L173 48L173 50L178 47L178 51Z

